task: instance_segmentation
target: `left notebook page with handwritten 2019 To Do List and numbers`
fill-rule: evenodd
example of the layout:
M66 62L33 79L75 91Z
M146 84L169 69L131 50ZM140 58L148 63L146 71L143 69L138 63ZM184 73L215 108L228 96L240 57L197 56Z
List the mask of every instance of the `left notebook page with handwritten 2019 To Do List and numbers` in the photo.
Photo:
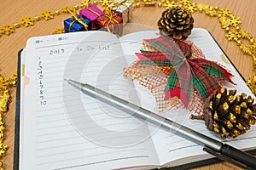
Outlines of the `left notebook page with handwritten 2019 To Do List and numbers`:
M122 80L126 65L117 57L122 54L119 43L113 43L117 38L107 32L92 34L35 37L27 42L25 74L30 83L23 89L20 169L159 164L147 124L64 81L88 82L124 99L136 99L133 84Z

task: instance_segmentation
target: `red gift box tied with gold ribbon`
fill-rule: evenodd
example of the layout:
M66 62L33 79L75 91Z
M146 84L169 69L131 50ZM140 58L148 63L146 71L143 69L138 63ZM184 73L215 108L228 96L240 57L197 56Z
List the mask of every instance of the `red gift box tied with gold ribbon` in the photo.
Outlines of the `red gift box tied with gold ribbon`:
M96 23L102 31L109 31L121 36L123 34L123 19L116 14L108 13L100 16Z

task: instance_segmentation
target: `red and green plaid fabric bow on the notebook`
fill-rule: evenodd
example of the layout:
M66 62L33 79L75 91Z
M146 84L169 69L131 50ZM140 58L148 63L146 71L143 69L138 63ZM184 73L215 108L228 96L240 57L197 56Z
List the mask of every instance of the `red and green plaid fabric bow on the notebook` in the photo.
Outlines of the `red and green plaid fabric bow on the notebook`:
M231 82L230 74L217 63L192 56L191 46L171 37L158 37L144 40L157 51L141 50L135 65L173 66L165 88L165 100L177 97L188 108L189 98L195 88L206 100L213 91L221 88L216 77ZM213 76L213 77L212 77Z

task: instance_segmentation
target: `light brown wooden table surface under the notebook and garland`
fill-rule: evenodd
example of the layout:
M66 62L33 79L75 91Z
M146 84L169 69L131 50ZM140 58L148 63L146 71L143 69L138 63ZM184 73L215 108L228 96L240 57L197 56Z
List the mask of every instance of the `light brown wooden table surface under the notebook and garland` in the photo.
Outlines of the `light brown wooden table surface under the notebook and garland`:
M236 16L240 16L242 20L241 28L243 31L251 33L256 36L256 23L254 17L256 11L255 0L194 0L195 3L210 4L214 7L229 8ZM67 6L79 4L79 0L64 1L64 0L19 0L19 1L1 1L0 10L0 27L5 25L13 26L16 22L20 22L22 17L35 17L44 11L55 11ZM164 8L148 7L135 8L131 22L140 23L147 26L157 28L156 21L160 19L161 11ZM63 20L69 18L70 14L56 15L54 20L40 20L34 26L24 27L20 26L15 30L14 34L10 36L3 35L0 37L0 73L3 77L11 77L16 71L17 53L20 48L24 48L26 40L29 37L36 37L51 34L56 28L63 28ZM224 37L225 31L220 28L218 19L210 18L204 13L196 12L194 14L195 27L203 27L210 31L213 37L224 49L224 52L230 57L231 61L236 65L237 69L246 79L253 74L252 59L246 54L242 54L235 42L228 42ZM12 101L9 105L9 111L3 114L3 121L6 123L4 144L9 145L9 150L6 156L2 159L3 167L5 169L13 168L13 149L15 136L15 88L11 91ZM223 162L207 167L200 167L197 169L238 169L230 163Z

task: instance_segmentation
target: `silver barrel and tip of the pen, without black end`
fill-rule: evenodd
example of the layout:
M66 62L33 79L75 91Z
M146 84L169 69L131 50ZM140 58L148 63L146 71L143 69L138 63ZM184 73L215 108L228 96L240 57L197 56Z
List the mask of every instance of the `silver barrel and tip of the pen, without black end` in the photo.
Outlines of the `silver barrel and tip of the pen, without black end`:
M156 126L164 128L168 132L176 133L178 136L189 139L196 144L207 146L212 150L221 152L223 144L215 139L211 139L206 135L197 133L194 130L188 127L184 127L177 122L172 122L171 120L166 119L163 116L157 115L152 111L143 109L138 105L131 104L125 99L120 99L119 97L108 94L99 88L92 87L89 84L82 84L73 80L67 80L67 82L74 87L79 88L84 94L87 94L90 97L100 100L108 105L113 105L113 107L118 108L121 111L125 111L131 116L135 116L147 122L151 122Z

